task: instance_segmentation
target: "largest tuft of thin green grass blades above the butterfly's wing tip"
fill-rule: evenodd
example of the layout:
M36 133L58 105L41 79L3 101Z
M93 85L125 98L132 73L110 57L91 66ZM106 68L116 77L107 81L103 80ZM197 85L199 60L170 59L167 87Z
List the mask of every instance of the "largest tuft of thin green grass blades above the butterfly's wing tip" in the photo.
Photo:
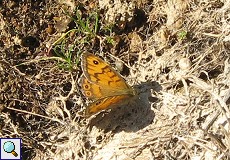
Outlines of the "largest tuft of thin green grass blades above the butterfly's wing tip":
M64 60L59 66L65 69L71 69L75 63L79 62L81 48L83 48L85 44L90 44L92 39L97 36L99 15L97 12L92 12L89 15L83 16L78 9L74 16L71 16L67 12L66 14L73 20L76 27L64 33L53 43L52 48L55 52L55 56L61 57ZM75 38L70 37L70 34L74 35L73 37Z

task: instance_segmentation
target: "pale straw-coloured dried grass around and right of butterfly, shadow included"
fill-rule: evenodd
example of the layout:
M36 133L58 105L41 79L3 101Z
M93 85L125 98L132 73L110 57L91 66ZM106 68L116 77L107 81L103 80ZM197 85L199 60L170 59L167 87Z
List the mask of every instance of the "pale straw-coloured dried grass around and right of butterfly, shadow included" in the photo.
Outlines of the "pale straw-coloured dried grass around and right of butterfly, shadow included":
M40 147L33 159L228 159L230 2L137 4L151 9L146 11L149 28L145 34L129 36L132 53L126 53L138 57L127 65L130 76L126 78L138 90L135 100L85 119L80 116L84 105L78 80L68 75L63 78L72 86L68 94L55 94L44 109L46 119L51 119L48 127L33 134L17 133L9 114L2 113L9 123L0 135L6 136L9 129L31 148L37 142ZM180 37L184 31L185 37ZM52 71L46 74L53 75ZM74 109L69 109L69 99ZM43 122L33 119L31 123ZM39 140L43 132L47 139Z

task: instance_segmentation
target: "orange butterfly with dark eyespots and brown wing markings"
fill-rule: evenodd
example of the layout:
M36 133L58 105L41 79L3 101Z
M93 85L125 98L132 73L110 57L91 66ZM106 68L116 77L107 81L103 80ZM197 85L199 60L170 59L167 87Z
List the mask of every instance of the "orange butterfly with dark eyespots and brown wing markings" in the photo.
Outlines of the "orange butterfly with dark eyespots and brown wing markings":
M93 100L86 107L86 116L115 107L133 97L136 92L108 63L85 52L81 57L83 76L80 85L85 97Z

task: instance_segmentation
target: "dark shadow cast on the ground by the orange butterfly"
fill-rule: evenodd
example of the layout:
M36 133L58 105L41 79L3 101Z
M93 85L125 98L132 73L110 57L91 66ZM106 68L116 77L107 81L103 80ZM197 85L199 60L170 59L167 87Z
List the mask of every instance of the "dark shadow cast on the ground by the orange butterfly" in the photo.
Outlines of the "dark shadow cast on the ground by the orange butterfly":
M89 127L96 126L103 129L104 132L113 131L115 133L136 132L152 123L155 114L151 110L151 90L159 92L161 86L157 82L146 82L134 86L137 90L137 96L130 99L126 105L111 109L110 112L101 112L91 117Z

